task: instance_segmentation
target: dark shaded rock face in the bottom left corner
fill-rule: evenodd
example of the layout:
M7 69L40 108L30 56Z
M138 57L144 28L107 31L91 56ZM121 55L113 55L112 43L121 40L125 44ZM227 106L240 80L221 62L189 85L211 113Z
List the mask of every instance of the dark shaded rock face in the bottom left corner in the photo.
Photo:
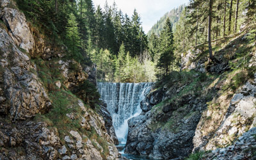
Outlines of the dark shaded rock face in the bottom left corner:
M56 130L47 129L44 123L19 122L13 125L0 123L0 159L56 159L60 138ZM4 148L11 147L6 150ZM22 155L22 148L25 155Z

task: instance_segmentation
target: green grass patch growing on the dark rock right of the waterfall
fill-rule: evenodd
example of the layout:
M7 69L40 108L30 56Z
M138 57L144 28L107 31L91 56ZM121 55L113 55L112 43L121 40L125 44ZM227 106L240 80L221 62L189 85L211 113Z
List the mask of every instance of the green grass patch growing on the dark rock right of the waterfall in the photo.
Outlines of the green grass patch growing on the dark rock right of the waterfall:
M157 120L156 122L151 122L149 125L152 131L157 131L157 129L168 129L168 131L179 132L180 120L188 119L192 116L195 111L188 109L186 103L189 102L189 97L195 99L195 97L206 97L208 92L214 92L210 90L211 88L205 88L216 79L216 76L211 76L207 74L201 74L193 70L189 72L172 72L170 76L165 77L162 81L159 81L155 88L158 90L163 90L163 86L167 88L173 88L179 90L176 94L172 95L170 99L163 100L152 107L151 111L154 116L159 117L163 115L164 106L179 106L177 109L174 109L172 114L169 116L163 115L163 120ZM204 87L203 87L204 86ZM208 90L209 89L209 90ZM208 91L207 91L208 90ZM210 94L211 95L211 94ZM213 98L212 95L210 97ZM166 118L164 118L166 116Z

